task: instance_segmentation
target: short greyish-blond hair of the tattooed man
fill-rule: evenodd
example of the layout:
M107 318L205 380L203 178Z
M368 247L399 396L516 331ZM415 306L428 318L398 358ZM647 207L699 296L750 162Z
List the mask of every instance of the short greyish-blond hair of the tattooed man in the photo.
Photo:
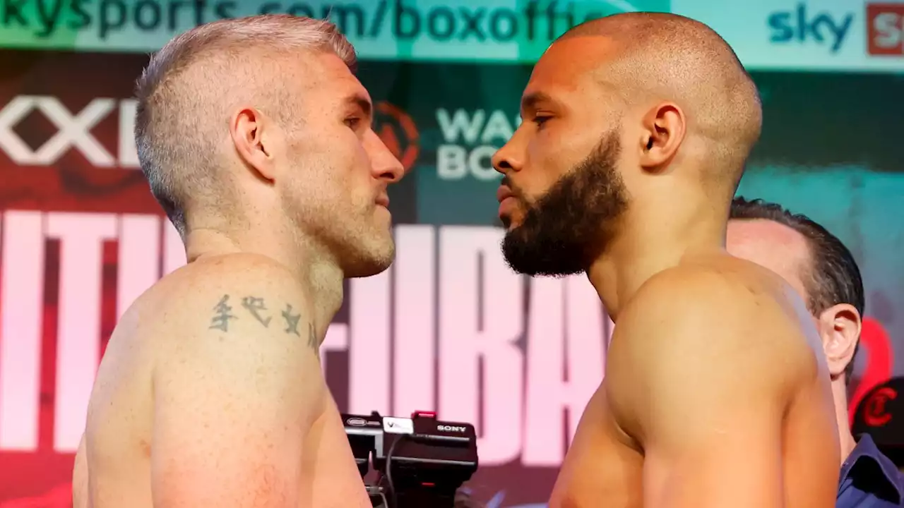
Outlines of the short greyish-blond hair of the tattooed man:
M267 68L275 56L298 51L332 52L352 71L357 63L334 24L288 14L202 24L151 57L136 87L138 161L183 238L186 206L222 197L218 122L226 121L234 100L251 100L275 118L292 116L279 63Z

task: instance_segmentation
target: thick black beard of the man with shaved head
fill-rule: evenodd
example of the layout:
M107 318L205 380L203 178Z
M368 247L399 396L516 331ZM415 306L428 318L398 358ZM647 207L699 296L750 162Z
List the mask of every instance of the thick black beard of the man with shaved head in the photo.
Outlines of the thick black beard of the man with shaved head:
M509 267L529 276L551 277L587 269L612 240L615 223L627 208L625 183L616 171L618 153L617 132L609 132L535 202L527 202L515 190L527 212L503 240Z

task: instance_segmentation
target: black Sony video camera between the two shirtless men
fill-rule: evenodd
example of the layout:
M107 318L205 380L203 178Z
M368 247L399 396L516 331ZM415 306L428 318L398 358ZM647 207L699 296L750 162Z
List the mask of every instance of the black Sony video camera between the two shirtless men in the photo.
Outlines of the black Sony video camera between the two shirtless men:
M367 484L373 506L452 508L455 493L477 470L477 436L469 423L438 421L434 412L411 418L342 415L358 471L377 471ZM385 497L384 497L385 496Z

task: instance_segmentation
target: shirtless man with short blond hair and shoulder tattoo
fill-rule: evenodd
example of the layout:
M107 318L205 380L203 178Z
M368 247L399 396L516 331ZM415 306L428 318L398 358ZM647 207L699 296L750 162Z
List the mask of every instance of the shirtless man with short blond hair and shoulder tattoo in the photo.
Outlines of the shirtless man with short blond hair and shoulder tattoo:
M318 347L344 278L394 257L352 45L288 15L181 34L138 80L136 139L188 264L137 298L100 363L76 508L371 506Z

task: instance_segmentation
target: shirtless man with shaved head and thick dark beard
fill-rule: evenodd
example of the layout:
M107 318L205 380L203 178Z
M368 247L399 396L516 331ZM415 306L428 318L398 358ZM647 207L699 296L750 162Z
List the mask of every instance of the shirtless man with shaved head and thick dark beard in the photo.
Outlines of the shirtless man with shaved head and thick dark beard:
M725 251L762 112L729 45L674 14L565 33L494 155L518 272L586 272L615 321L551 508L834 505L839 450L813 318Z

